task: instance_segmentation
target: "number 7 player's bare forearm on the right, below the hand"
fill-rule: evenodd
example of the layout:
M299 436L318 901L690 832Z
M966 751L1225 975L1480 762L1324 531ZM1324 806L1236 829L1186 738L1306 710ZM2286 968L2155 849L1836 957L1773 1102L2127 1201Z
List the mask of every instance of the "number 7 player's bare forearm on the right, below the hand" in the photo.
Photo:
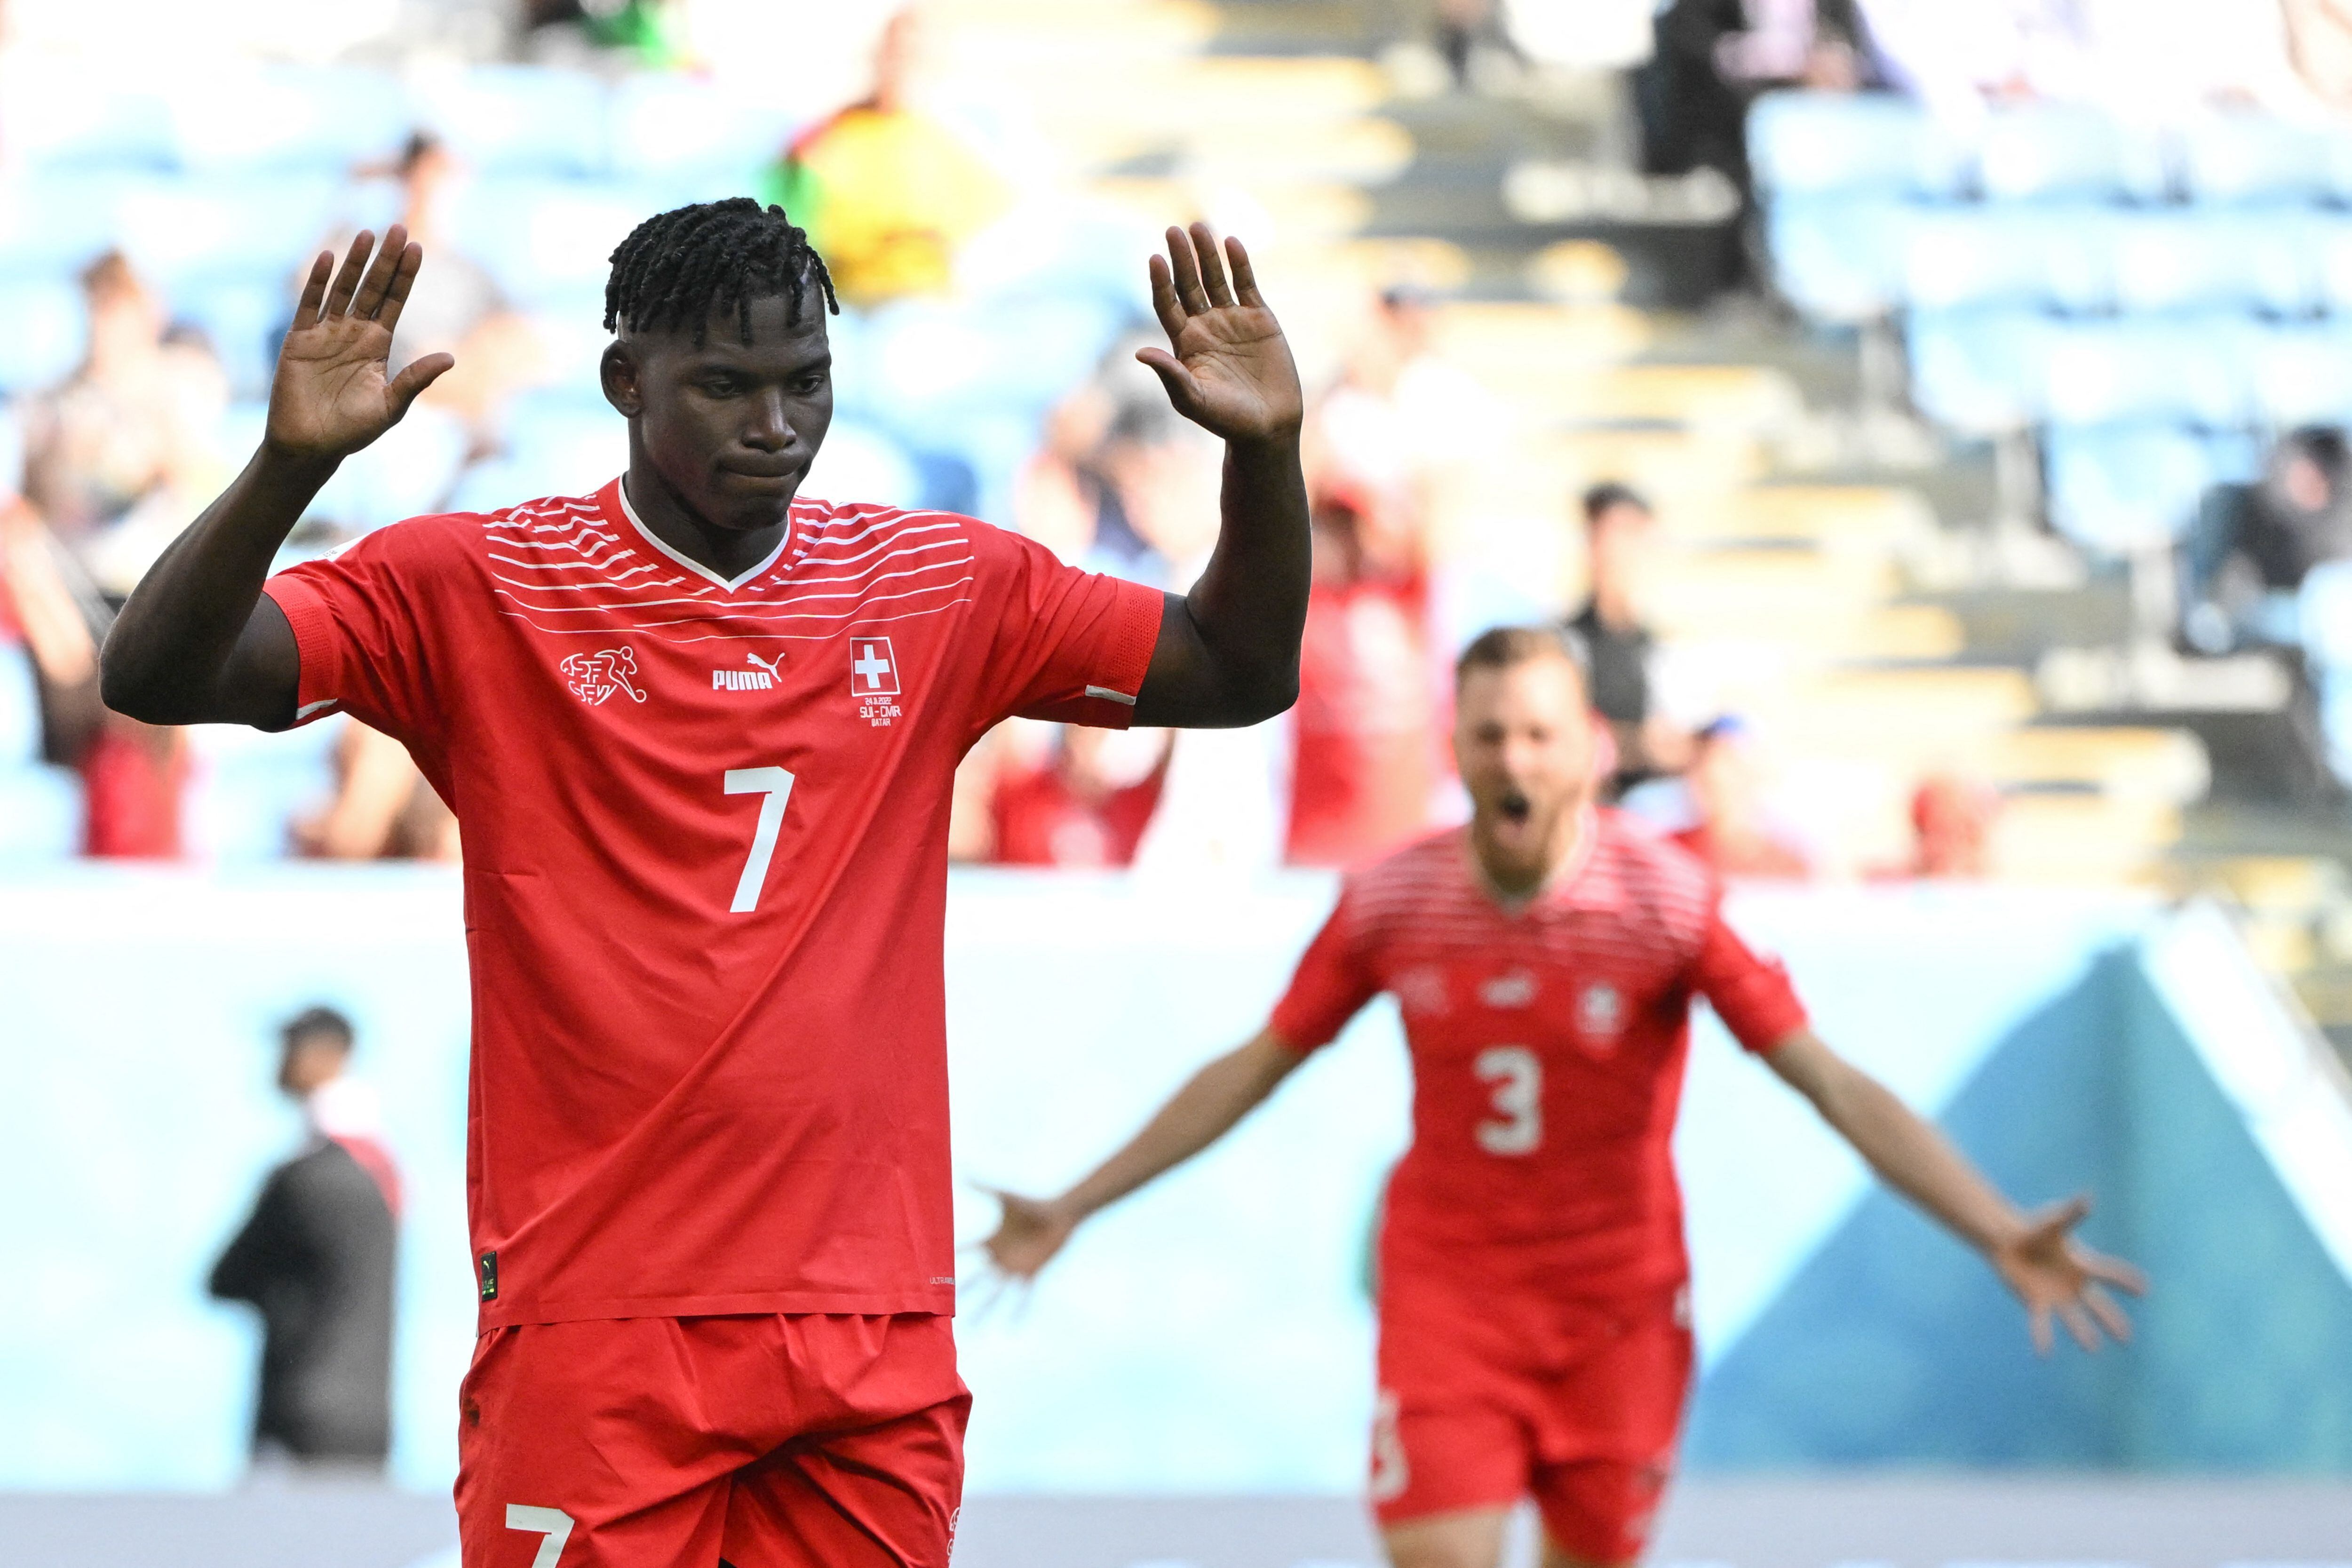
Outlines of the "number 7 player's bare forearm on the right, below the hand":
M1298 433L1228 442L1218 510L1216 550L1185 609L1225 701L1261 719L1298 698L1310 569Z

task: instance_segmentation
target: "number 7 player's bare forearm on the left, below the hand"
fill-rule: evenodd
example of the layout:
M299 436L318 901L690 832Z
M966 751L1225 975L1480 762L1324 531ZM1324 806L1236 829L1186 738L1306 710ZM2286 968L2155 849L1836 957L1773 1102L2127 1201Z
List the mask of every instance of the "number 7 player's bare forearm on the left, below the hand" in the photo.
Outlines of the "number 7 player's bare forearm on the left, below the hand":
M278 548L332 475L332 461L254 451L155 559L106 635L99 668L108 708L151 724L256 717L221 712L221 677Z

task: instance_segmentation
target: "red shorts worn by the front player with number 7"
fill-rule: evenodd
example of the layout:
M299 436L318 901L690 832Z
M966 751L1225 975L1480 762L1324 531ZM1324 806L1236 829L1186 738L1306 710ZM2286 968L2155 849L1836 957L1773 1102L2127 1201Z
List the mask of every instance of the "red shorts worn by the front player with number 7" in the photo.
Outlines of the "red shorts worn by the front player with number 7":
M459 1389L466 1568L946 1568L953 1319L492 1328Z

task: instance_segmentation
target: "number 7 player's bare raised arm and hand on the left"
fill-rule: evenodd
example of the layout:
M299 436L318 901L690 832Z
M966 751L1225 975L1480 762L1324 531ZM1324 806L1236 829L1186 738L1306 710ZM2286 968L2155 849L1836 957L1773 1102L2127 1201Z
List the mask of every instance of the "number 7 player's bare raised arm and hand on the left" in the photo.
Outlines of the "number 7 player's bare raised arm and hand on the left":
M393 327L423 249L400 226L383 235L374 263L372 247L362 230L341 270L325 252L310 263L278 350L261 449L172 541L106 635L99 684L115 712L148 724L294 722L301 658L294 628L261 595L270 559L336 463L390 430L454 364L426 355L388 374Z

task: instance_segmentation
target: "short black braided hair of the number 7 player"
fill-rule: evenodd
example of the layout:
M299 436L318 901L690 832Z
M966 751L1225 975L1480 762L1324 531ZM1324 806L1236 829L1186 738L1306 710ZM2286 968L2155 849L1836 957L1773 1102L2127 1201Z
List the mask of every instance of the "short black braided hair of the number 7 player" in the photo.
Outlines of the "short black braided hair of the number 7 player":
M731 306L750 343L750 301L783 294L797 317L811 282L840 315L826 259L783 207L748 195L675 207L637 223L612 252L604 331L691 327L701 348L710 317Z

